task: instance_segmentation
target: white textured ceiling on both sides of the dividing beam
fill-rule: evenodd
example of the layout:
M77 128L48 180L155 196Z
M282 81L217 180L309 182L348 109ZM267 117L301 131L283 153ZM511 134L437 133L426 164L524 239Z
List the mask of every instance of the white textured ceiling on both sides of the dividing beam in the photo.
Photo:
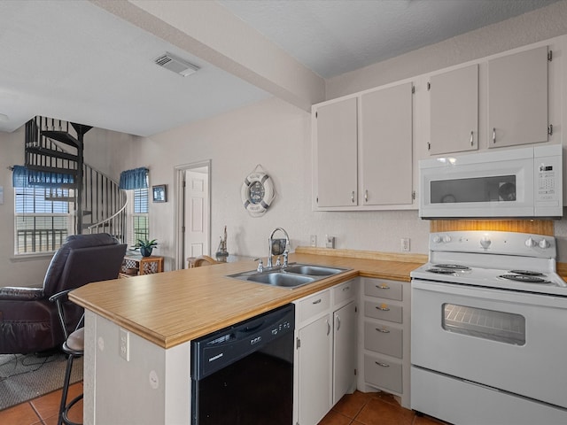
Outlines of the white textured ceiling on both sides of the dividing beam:
M223 0L218 4L226 9L217 7L329 78L554 1ZM277 96L229 67L207 63L198 51L120 19L101 3L105 0L0 0L0 131L43 115L153 135ZM107 3L132 8L144 2ZM183 1L159 7L167 12L175 4ZM214 28L215 35L231 37L228 29ZM154 65L153 58L165 51L201 69L183 78Z

